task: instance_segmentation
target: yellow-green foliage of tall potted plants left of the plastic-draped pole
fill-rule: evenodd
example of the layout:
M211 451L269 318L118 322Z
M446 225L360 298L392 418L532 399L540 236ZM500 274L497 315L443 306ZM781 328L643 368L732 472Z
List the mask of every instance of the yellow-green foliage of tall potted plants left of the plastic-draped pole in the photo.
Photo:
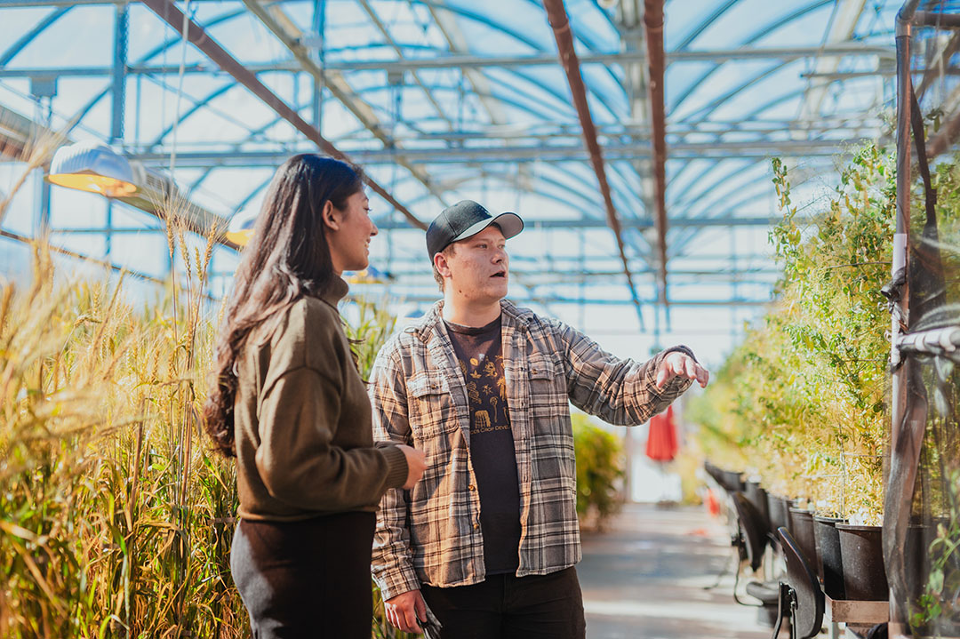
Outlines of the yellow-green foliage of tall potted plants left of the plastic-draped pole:
M783 269L776 298L708 389L708 409L694 413L727 415L724 438L717 420L708 424L709 446L736 442L775 492L876 523L889 352L879 291L890 271L892 160L876 147L860 150L828 198L803 207L785 165L774 159L772 168L783 212L770 233Z

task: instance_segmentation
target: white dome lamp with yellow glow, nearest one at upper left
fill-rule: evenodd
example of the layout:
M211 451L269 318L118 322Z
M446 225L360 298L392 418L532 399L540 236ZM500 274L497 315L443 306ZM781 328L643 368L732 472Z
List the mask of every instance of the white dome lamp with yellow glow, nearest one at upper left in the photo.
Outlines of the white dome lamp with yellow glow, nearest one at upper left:
M97 141L60 147L50 162L47 180L108 198L132 196L137 191L130 161Z

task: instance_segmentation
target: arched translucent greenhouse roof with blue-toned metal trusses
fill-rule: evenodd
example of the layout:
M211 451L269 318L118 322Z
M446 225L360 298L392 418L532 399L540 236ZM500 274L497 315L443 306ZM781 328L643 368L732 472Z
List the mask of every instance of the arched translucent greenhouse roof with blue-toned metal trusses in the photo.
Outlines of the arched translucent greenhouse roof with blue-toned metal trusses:
M389 235L374 265L394 295L437 297L422 228L470 198L527 222L512 246L521 302L633 307L635 329L653 319L659 331L697 307L769 300L777 269L763 245L780 216L769 159L787 159L812 188L838 156L889 136L899 8L0 0L3 21L22 26L0 44L0 147L15 155L29 125L98 137L156 172L175 155L180 193L223 225L255 208L290 154L348 157L370 176ZM81 17L96 26L74 36L96 55L53 55ZM256 100L253 119L232 107ZM65 225L49 192L33 206L30 228L14 234L49 230L66 249L149 276L172 268L116 254L118 241L162 234L149 216ZM221 252L215 274L228 282L235 258Z

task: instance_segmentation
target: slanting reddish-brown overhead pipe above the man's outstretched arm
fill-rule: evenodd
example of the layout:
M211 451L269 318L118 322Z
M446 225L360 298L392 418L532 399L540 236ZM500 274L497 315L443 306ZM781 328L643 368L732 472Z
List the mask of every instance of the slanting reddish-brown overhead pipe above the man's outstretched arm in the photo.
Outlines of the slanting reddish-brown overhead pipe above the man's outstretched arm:
M584 84L583 76L580 75L580 60L577 59L577 53L573 48L573 34L570 32L570 21L566 15L564 0L543 0L543 8L546 10L550 27L553 29L553 36L557 40L557 52L560 54L560 61L564 66L566 82L570 86L570 94L573 97L573 105L576 107L577 116L580 118L580 127L584 133L584 144L587 146L590 163L593 165L593 173L596 174L597 182L600 185L600 193L603 196L603 201L607 208L607 224L610 225L613 231L613 236L616 239L616 247L620 251L620 260L623 262L623 272L627 276L630 296L633 298L634 305L636 306L636 317L639 319L640 329L642 330L644 324L643 312L640 308L640 297L636 294L634 276L630 272L627 251L623 244L623 233L620 229L620 221L619 218L617 218L616 209L613 206L610 184L607 182L607 170L604 167L600 144L597 142L596 127L593 126L593 118L590 115L590 106L587 102L587 87Z

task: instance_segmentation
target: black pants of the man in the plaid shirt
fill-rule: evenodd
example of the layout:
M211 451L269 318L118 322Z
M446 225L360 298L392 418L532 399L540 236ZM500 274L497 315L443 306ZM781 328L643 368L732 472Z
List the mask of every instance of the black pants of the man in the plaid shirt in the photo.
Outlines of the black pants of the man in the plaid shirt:
M444 639L584 639L584 601L575 568L550 575L492 575L468 586L420 592Z

